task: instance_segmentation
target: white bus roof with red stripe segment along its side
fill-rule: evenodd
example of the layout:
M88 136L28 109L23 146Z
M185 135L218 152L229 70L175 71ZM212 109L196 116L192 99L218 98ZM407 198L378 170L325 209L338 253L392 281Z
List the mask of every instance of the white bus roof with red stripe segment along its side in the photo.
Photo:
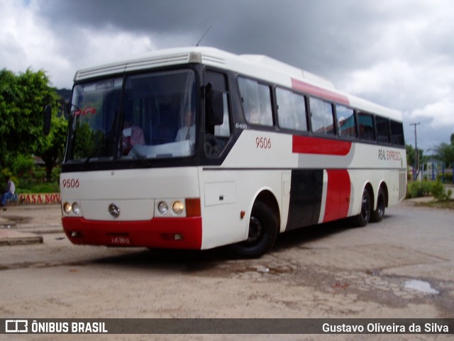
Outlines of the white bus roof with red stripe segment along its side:
M109 74L189 63L229 69L245 76L299 89L336 103L402 121L402 113L399 111L338 91L334 89L333 83L328 79L306 70L279 62L265 55L234 55L214 47L180 47L146 52L143 55L131 57L129 60L119 60L105 65L80 69L74 75L74 82Z

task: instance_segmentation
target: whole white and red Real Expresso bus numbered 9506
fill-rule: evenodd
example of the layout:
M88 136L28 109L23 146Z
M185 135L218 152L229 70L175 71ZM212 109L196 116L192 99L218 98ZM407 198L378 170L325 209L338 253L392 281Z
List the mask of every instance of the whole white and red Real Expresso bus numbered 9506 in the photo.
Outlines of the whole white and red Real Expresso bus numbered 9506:
M242 257L404 199L402 115L259 55L209 47L79 70L60 177L74 244Z

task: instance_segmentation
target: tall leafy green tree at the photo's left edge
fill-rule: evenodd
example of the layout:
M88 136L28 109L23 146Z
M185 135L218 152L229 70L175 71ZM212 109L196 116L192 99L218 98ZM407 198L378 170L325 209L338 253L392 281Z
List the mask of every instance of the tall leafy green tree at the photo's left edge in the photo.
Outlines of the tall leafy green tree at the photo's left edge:
M43 70L19 74L0 70L0 166L16 155L42 156L49 149L43 135L43 110L46 104L57 108L59 99L49 83Z

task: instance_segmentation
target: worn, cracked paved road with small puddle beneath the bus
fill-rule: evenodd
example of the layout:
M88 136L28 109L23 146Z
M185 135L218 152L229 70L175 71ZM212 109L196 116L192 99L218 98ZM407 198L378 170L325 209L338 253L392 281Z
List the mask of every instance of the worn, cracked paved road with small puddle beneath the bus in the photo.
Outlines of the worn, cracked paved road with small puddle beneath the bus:
M0 218L3 229L9 220L10 229L43 237L42 243L0 247L4 318L454 317L454 211L403 203L366 228L351 228L344 221L281 235L272 252L248 260L228 259L223 250L71 245L61 232L58 206L11 208ZM14 340L88 340L80 335L27 336ZM128 340L150 340L149 335L136 336ZM399 335L399 340L414 336ZM389 335L374 337L389 340ZM449 335L437 337L451 340ZM153 340L175 338L187 340L175 335ZM238 340L232 335L190 338ZM363 339L336 335L336 340ZM418 335L418 340L433 340L433 335Z

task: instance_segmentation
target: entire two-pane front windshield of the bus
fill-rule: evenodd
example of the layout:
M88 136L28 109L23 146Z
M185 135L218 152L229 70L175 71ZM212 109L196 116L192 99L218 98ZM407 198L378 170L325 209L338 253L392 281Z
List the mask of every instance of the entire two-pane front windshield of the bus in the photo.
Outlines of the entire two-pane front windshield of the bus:
M192 70L77 84L72 106L65 162L194 154L196 86Z

